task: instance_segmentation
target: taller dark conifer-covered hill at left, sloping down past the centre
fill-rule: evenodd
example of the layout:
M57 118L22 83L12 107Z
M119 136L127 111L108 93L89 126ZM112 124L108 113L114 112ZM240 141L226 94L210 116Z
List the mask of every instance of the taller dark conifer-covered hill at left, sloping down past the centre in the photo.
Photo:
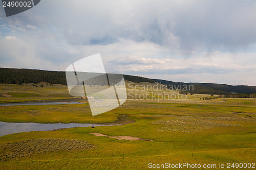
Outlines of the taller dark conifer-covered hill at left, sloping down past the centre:
M151 79L123 75L124 79L132 82L151 82ZM0 83L23 84L23 83L52 83L67 85L65 71L46 71L38 69L0 68Z

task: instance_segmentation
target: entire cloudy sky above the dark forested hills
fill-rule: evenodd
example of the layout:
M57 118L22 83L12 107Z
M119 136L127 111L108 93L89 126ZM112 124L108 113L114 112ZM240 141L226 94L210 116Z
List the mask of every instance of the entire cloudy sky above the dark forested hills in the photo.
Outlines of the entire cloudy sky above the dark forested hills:
M97 53L108 72L256 86L256 1L41 0L10 17L0 7L0 67L64 71Z

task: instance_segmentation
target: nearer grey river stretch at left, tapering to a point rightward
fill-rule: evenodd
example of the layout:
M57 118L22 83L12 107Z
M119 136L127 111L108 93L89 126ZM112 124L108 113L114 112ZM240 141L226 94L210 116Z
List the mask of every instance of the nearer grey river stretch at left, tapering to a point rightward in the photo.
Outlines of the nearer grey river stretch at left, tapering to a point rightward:
M50 131L63 128L77 128L77 127L96 127L96 126L112 126L106 124L38 124L38 123L6 123L0 122L0 136L30 131Z

